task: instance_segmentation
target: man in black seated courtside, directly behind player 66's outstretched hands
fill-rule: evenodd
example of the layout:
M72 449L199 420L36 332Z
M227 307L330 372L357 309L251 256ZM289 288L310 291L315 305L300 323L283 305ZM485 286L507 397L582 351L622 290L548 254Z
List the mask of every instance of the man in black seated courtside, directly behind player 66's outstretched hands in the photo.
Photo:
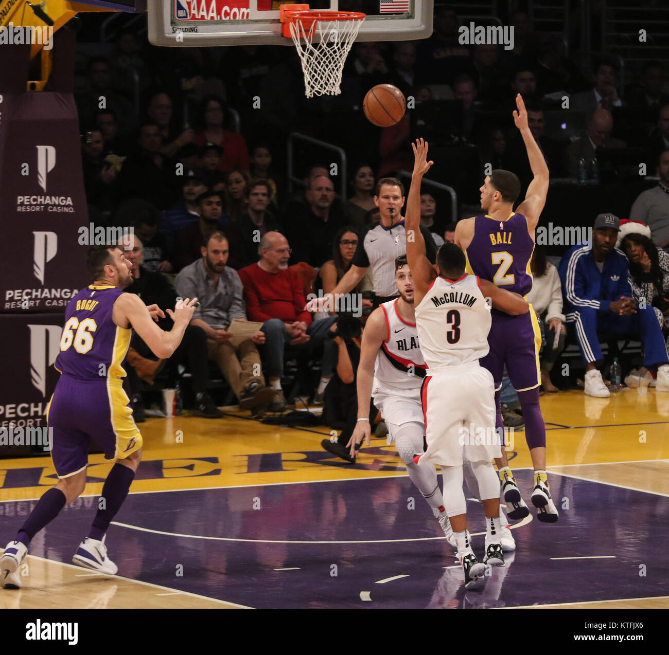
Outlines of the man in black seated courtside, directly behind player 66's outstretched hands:
M153 305L155 303L163 310L174 307L177 294L172 285L164 275L151 272L142 265L142 254L142 242L134 236L132 249L126 251L126 259L132 264L130 274L133 281L124 290L128 293L136 293L145 305ZM192 298L194 296L183 297ZM158 325L163 330L169 330L171 322L169 317L158 319ZM128 378L135 400L135 410L138 413L142 412L143 402L138 393L136 378L141 378L149 382L149 384L153 384L155 375L166 361L159 360L156 362L152 358L153 354L149 346L137 334L134 334L130 342L130 350L128 351L128 364L134 369L134 375L128 375ZM203 418L222 418L223 413L215 406L211 396L207 393L209 370L207 368L207 339L203 330L191 323L183 334L179 348L175 350L167 362L176 366L183 364L191 372L193 393L195 394L193 414Z

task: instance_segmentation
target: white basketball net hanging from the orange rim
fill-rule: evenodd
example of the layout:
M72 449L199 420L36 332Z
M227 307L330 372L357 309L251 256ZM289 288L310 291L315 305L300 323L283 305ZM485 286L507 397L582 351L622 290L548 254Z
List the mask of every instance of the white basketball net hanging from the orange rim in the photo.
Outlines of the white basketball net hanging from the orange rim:
M306 29L299 18L290 23L290 35L302 61L307 98L341 94L344 63L362 23L362 19L325 19Z

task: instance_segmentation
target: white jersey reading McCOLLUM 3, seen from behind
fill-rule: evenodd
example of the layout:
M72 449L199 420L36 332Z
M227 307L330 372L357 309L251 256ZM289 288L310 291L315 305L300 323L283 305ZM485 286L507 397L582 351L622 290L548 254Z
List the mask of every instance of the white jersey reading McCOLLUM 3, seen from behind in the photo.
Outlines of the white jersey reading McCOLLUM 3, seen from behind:
M437 277L416 307L421 351L429 371L466 364L490 350L490 307L476 275L450 281Z

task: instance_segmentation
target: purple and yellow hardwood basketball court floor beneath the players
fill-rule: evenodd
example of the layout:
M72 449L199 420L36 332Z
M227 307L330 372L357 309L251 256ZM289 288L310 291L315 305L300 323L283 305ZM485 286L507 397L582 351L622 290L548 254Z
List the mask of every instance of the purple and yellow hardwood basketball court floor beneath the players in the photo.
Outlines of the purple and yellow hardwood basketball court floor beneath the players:
M70 564L110 469L92 455L84 497L35 537L25 585L0 590L0 608L669 607L657 551L669 538L669 394L571 391L541 406L561 519L514 527L518 549L481 594L464 593L443 533L385 439L349 465L320 448L326 428L231 411L140 426L144 460L108 532L117 576ZM522 431L512 458L527 489ZM0 545L54 482L49 459L0 461ZM480 533L476 505L468 500Z

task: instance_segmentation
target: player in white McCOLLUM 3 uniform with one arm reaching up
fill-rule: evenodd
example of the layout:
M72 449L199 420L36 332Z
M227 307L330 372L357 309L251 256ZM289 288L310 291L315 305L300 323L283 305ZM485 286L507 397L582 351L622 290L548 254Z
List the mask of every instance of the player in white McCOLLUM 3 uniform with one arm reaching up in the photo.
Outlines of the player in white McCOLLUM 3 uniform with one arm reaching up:
M436 270L429 263L419 231L420 187L433 162L427 161L427 143L422 139L412 147L415 164L405 218L407 259L413 274L420 347L427 364L421 389L427 449L414 460L421 467L442 467L444 505L456 537L465 585L476 588L482 581L484 564L504 564L499 483L491 463L500 456L503 432L495 428L492 375L479 364L489 350L491 319L486 298L492 307L513 315L527 313L529 304L517 293L467 275L464 253L452 243L439 249ZM486 515L483 563L472 551L467 530L464 456L472 465Z

